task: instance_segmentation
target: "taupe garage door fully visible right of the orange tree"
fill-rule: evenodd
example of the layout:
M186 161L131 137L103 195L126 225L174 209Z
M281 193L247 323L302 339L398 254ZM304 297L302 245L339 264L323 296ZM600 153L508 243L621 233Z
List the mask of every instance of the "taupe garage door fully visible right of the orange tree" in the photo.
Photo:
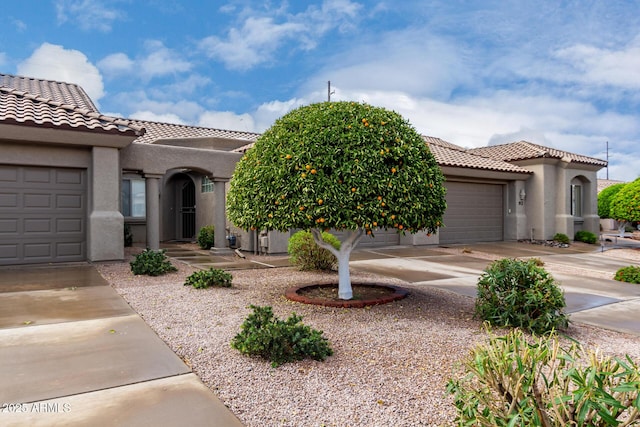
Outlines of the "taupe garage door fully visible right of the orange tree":
M447 182L440 243L495 242L503 235L503 186Z

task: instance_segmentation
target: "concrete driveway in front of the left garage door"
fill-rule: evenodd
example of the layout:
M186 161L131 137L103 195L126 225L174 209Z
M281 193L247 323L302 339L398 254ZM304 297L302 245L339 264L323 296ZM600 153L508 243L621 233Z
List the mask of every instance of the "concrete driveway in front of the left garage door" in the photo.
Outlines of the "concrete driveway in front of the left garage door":
M0 425L241 426L89 265L0 269Z

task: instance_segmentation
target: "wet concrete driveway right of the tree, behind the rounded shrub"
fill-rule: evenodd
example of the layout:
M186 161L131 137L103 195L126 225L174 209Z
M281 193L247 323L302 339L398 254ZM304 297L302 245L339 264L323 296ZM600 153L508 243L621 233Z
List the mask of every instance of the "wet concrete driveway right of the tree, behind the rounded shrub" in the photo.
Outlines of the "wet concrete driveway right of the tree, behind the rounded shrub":
M640 248L640 242L631 242L627 247ZM352 256L351 267L475 297L478 277L490 261L474 257L474 253L537 257L545 262L545 268L564 290L571 321L640 336L640 285L590 274L597 271L613 277L620 267L633 262L598 255L596 246L549 248L498 242L464 245L464 248L469 251L464 255L452 255L437 247L359 250ZM568 273L569 269L576 268L581 270L580 274Z

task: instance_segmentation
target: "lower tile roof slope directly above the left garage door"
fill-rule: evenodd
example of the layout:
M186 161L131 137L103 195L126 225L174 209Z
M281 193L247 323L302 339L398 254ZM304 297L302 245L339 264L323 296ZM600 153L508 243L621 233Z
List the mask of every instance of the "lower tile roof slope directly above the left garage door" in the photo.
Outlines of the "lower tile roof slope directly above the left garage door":
M22 90L0 87L0 122L56 129L85 129L114 134L143 135L144 129L129 120L63 104Z

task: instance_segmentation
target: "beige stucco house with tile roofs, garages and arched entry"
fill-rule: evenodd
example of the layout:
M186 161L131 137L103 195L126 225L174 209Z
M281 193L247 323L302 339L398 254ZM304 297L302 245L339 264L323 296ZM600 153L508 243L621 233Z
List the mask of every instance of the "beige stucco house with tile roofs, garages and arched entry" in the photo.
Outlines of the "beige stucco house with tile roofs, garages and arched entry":
M286 251L227 223L236 162L258 134L102 115L77 85L0 74L0 265L105 261L134 241L193 240L216 228L244 250ZM380 230L363 246L548 239L598 232L596 173L606 162L521 141L465 149L425 137L446 177L445 227Z

